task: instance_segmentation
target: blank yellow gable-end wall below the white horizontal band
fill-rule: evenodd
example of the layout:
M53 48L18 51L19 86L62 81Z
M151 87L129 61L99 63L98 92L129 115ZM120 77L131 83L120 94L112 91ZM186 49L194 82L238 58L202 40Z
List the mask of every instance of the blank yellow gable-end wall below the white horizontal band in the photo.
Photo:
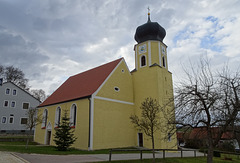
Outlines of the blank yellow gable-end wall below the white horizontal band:
M93 149L136 146L135 128L129 119L134 106L94 99Z

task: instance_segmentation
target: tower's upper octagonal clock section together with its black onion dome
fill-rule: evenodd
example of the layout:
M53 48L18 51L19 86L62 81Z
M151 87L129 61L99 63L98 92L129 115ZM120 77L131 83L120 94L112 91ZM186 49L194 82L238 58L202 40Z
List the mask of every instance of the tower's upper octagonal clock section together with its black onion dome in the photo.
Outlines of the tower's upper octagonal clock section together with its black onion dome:
M135 69L157 64L168 69L167 46L163 43L165 29L157 22L151 22L148 13L147 23L139 26L135 33Z

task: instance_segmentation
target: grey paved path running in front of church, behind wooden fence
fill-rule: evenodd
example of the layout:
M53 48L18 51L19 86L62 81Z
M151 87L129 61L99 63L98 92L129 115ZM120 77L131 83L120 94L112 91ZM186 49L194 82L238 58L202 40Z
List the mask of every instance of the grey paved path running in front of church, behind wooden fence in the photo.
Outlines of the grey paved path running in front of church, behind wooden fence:
M197 152L197 156L203 156ZM166 152L166 157L181 157L180 152ZM184 151L184 157L193 157L193 151ZM156 158L162 158L163 153L156 153ZM144 153L143 159L152 158L151 153ZM140 159L140 154L113 154L112 160L136 160ZM4 161L5 160L5 161ZM108 154L90 154L90 155L42 155L42 154L22 154L0 152L0 163L81 163L81 162L100 162L108 161Z

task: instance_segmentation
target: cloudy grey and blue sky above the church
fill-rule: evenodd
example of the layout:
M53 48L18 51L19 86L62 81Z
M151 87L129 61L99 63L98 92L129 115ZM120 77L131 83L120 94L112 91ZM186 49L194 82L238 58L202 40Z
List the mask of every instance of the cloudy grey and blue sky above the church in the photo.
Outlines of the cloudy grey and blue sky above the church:
M52 93L69 76L124 57L134 69L136 28L166 29L174 82L183 65L240 63L239 0L0 0L0 65L23 70L32 89Z

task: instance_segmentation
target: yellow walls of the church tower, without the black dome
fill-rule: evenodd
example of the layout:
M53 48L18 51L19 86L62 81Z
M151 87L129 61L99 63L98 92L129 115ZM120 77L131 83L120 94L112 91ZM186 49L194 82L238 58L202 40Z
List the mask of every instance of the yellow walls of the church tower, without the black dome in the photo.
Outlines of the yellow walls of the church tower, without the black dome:
M146 41L144 43L138 44L136 49L139 46L146 44L147 49L143 54L139 54L139 51L136 52L136 57L138 63L137 71L133 72L133 85L134 85L134 103L135 103L135 114L140 116L141 103L147 97L152 97L157 99L159 104L163 106L166 102L169 102L170 98L173 98L173 86L172 86L172 75L167 70L167 52L163 54L162 48L166 48L166 45L159 41ZM149 46L150 45L150 46ZM151 49L149 49L151 48ZM161 53L159 55L159 50ZM151 53L151 65L157 63L160 66L149 66L149 54ZM140 67L140 57L142 55L146 56L147 65L145 67ZM162 57L165 57L166 68L163 67ZM159 58L161 57L161 58ZM161 63L159 63L159 60ZM174 105L169 106L172 111L174 111ZM164 114L160 113L162 125L167 122L164 119ZM171 141L168 141L168 132L167 130L159 130L155 133L155 148L176 148L176 134L172 135ZM144 133L144 132L142 132ZM137 137L137 134L135 135ZM143 145L147 148L152 148L152 142L149 137L144 134Z

